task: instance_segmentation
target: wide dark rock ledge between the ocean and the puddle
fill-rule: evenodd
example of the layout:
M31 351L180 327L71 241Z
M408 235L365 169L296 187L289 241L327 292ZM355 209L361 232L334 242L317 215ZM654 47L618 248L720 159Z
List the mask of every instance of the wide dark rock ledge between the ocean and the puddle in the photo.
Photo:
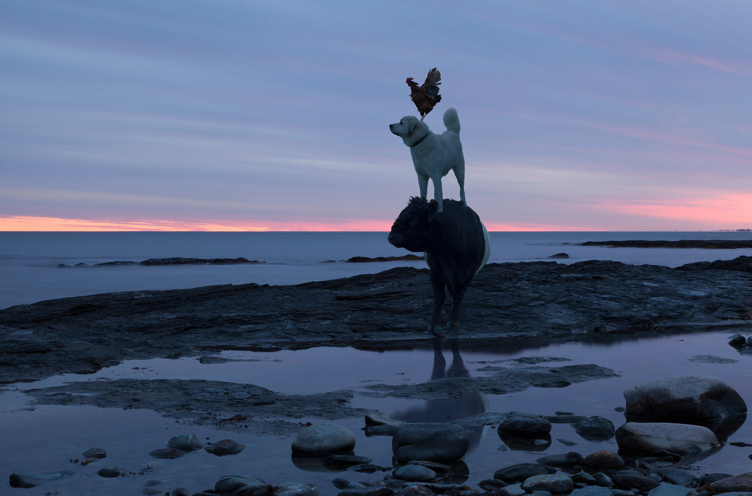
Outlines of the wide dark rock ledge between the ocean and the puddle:
M483 346L749 323L752 274L588 261L489 264L456 337ZM404 348L424 342L428 270L393 268L296 286L117 292L0 310L0 377L92 374L130 358L223 349ZM489 338L504 338L493 340ZM521 346L521 344L517 344Z

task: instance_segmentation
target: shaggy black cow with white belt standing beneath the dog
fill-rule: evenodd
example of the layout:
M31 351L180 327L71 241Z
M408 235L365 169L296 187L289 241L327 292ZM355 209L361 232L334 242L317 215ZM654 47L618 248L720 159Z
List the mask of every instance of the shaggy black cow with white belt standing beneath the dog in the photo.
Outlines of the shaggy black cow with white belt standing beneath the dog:
M452 295L447 327L459 327L459 305L490 253L488 231L478 214L461 201L448 198L444 198L444 210L439 213L435 200L413 197L394 221L387 239L398 248L426 254L433 288L433 316L428 330L441 330L444 286Z

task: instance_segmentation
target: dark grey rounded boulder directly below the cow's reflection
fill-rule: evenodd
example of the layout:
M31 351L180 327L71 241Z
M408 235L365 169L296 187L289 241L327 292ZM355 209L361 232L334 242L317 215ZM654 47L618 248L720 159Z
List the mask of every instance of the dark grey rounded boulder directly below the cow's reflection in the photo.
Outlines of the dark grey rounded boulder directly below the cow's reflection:
M392 438L397 461L456 461L465 455L469 440L461 425L448 422L402 424Z

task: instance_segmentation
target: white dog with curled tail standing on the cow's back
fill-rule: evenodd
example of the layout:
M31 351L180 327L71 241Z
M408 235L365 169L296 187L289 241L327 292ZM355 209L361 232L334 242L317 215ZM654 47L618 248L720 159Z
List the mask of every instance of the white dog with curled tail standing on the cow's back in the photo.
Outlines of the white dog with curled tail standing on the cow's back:
M459 199L465 201L465 156L459 142L459 117L453 108L444 112L444 126L447 130L435 135L428 129L428 124L415 116L404 116L396 124L390 124L390 131L402 138L410 147L415 172L418 174L420 198L426 198L429 177L433 182L433 198L438 202L438 211L444 207L441 193L441 178L454 171L459 183Z

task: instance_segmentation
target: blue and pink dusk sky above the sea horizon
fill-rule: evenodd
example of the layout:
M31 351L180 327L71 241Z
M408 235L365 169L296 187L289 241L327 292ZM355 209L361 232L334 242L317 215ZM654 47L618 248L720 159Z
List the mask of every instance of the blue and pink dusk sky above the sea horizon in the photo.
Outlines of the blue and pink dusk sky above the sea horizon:
M433 67L425 122L459 113L489 230L752 228L750 25L747 0L3 0L0 231L388 231L419 194L388 126Z

